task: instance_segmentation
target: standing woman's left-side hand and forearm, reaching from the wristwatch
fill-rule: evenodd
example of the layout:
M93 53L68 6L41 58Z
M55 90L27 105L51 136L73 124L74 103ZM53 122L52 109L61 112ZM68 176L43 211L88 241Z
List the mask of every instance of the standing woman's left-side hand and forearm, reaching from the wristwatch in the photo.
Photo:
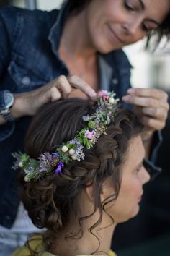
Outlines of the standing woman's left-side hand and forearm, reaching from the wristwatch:
M27 93L15 94L14 106L12 106L12 116L32 116L40 106L49 101L58 101L60 98L68 98L74 89L79 89L88 98L94 99L95 91L86 82L76 75L65 77L61 75L52 82L36 90Z

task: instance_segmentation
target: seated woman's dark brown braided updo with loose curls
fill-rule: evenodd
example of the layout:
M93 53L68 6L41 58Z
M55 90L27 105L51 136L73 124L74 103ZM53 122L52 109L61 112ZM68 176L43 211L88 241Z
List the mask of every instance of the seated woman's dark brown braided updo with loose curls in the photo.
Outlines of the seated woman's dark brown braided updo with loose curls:
M67 142L76 132L86 126L82 116L93 114L96 103L78 98L48 103L40 108L27 132L25 150L31 158L40 153L53 152L56 145ZM79 235L81 223L90 218L96 210L100 217L93 229L100 223L102 212L108 202L116 200L120 190L121 166L125 161L130 139L139 135L143 126L129 111L117 110L115 121L107 127L93 148L84 149L84 161L71 161L62 169L63 174L52 174L40 181L24 182L21 174L21 197L32 222L38 228L48 229L44 234L45 244L52 249L53 241L69 223L70 213L78 219ZM110 177L115 194L101 202L103 182ZM81 191L89 184L93 186L94 212L90 216L79 216ZM112 220L114 221L114 220Z

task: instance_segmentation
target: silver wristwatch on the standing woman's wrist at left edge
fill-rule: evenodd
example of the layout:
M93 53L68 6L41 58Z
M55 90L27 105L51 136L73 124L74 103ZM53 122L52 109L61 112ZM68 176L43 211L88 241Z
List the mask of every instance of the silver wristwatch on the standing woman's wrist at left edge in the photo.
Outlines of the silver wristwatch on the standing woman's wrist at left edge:
M9 90L0 91L0 115L6 121L14 121L10 108L14 103L14 95L9 92Z

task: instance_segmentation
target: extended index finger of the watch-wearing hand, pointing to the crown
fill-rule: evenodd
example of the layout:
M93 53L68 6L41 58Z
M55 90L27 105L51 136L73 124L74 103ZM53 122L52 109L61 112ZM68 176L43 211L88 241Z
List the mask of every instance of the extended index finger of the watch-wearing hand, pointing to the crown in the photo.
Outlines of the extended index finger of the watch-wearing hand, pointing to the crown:
M95 92L95 90L91 88L91 86L88 85L80 77L77 77L76 75L73 74L68 77L68 82L70 82L74 88L77 88L81 90L81 92L85 93L89 98L93 100L96 98L97 93Z

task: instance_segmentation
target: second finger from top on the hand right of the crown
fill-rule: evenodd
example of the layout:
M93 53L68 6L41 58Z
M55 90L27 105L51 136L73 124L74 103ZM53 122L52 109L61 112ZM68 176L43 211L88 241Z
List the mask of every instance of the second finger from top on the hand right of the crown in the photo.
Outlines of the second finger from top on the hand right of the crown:
M135 97L132 95L125 95L122 97L125 103L133 104L135 106L150 107L150 108L165 108L168 109L169 105L165 101L158 101L155 98Z

